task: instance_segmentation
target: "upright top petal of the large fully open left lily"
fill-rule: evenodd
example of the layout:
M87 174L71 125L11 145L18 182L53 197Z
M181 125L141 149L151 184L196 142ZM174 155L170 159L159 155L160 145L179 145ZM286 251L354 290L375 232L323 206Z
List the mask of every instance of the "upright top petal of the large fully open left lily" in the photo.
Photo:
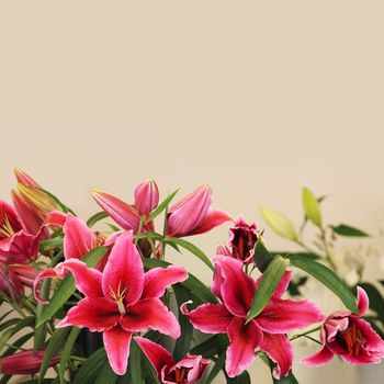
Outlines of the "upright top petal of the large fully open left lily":
M136 303L144 286L142 257L132 240L132 231L120 235L103 271L105 297L123 298L126 306Z

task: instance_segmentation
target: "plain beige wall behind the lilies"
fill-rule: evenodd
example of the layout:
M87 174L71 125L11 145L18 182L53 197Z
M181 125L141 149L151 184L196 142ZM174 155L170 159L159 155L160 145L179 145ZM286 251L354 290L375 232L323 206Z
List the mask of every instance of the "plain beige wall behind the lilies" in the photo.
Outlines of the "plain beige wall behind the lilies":
M305 184L331 195L329 222L376 233L383 12L382 1L0 0L0 195L14 166L83 217L97 211L91 187L131 199L144 177L163 194L210 182L215 206L262 227L261 204L298 222ZM225 239L222 228L200 244L213 253ZM368 383L332 368L298 376Z

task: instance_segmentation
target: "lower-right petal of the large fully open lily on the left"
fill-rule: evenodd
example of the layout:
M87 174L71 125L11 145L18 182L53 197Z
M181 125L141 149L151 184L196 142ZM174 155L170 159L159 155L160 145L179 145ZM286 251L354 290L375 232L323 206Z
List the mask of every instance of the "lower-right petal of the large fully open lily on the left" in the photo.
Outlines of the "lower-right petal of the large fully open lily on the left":
M173 339L180 336L178 320L159 298L142 300L129 306L127 315L122 316L120 324L125 330L132 332L145 331L150 328Z

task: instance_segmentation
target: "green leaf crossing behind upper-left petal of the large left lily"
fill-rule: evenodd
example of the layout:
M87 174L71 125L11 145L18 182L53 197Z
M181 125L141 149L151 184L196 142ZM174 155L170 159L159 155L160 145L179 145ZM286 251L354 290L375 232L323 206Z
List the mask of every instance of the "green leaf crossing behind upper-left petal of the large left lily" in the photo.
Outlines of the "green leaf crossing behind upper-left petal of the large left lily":
M88 267L94 267L106 253L108 247L98 247L89 251L81 261L86 262ZM39 327L42 324L53 318L55 314L64 306L68 298L75 293L75 279L68 274L56 290L54 296L42 312L42 316L36 324Z

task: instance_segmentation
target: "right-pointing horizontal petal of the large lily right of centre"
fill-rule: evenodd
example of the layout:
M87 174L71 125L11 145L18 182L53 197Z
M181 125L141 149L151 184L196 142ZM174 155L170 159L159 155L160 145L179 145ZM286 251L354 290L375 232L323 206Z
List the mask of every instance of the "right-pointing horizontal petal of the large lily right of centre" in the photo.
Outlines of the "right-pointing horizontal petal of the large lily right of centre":
M309 301L272 300L255 318L257 325L269 334L285 334L324 320L321 310Z

